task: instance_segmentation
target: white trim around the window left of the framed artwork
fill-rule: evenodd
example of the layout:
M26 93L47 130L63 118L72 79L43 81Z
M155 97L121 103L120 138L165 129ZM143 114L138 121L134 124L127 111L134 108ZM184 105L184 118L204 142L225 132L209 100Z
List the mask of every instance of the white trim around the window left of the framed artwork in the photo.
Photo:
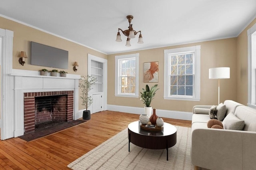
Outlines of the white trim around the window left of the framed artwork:
M134 58L136 60L136 85L135 85L135 94L119 94L119 85L118 85L118 77L119 77L119 59L129 59ZM127 54L127 55L116 55L115 56L115 96L116 97L139 97L139 53L135 54Z

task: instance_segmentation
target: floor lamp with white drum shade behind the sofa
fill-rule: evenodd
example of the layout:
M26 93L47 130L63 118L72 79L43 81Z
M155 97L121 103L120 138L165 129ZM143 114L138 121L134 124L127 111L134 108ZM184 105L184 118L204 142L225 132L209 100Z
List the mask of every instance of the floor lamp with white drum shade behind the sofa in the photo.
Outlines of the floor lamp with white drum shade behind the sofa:
M209 79L218 79L218 104L220 104L220 79L230 78L230 67L216 67L209 69Z

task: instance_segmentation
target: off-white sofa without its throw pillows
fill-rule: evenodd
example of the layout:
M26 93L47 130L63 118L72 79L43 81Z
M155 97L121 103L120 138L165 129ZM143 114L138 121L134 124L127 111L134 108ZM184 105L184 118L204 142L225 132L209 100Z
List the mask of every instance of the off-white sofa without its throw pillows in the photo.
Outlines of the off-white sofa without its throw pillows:
M210 170L256 170L256 110L226 100L228 115L244 120L243 130L208 128L212 106L193 107L191 159L194 166Z

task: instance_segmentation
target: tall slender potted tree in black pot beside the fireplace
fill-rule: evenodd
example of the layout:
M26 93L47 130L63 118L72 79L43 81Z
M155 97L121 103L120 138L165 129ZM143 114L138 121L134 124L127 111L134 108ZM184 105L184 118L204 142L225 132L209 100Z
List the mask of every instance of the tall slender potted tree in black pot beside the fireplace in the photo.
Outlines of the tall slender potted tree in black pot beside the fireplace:
M89 95L90 90L92 90L92 86L97 82L97 78L91 75L87 75L86 77L82 76L80 79L79 87L82 91L80 98L82 99L82 105L85 107L85 111L83 111L83 119L90 120L91 112L88 109L90 105L92 105L92 97Z

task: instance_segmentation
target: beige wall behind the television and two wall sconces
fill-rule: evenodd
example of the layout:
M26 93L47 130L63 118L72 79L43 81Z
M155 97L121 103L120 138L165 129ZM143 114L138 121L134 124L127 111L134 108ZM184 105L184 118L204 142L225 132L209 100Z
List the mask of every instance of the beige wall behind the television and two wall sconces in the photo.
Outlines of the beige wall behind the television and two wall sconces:
M104 53L100 53L93 49L84 47L82 45L78 45L77 43L70 42L68 40L64 40L62 38L58 38L51 34L47 34L40 30L36 30L34 28L25 26L23 24L19 24L12 20L8 20L6 18L0 17L0 28L11 30L14 32L13 38L13 60L12 60L12 68L13 69L24 69L24 70L35 70L38 71L40 69L46 68L48 70L58 69L44 66L37 66L30 64L30 42L42 43L44 45L49 45L52 47L64 49L68 51L68 69L58 69L67 71L70 74L78 74L78 75L87 75L87 58L88 53L102 57L107 59L107 55ZM20 51L26 51L28 56L25 59L24 66L20 65L18 62L18 55ZM79 64L78 71L73 71L73 63L77 61ZM79 92L80 93L80 92ZM83 109L84 107L81 105L81 101L79 99L79 109Z

